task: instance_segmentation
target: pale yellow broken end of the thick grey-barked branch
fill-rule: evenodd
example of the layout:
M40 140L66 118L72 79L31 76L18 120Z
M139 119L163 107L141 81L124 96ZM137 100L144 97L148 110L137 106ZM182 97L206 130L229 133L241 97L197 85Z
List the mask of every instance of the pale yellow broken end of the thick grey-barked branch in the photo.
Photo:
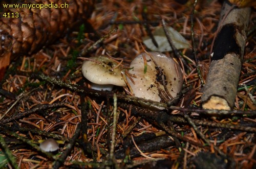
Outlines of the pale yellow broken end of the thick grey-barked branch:
M231 110L227 101L219 96L210 96L210 99L202 104L203 109Z

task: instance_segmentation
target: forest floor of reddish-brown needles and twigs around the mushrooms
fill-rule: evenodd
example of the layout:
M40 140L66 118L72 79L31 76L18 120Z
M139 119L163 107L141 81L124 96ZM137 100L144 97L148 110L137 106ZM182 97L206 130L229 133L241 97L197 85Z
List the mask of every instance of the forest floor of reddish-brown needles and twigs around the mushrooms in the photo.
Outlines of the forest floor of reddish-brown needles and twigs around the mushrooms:
M191 46L192 10L190 2L103 0L95 4L84 30L80 26L55 44L12 62L1 83L6 95L0 95L0 133L16 164L20 168L255 168L255 10L234 106L238 111L217 117L200 107L202 85ZM204 81L220 12L219 1L202 1L194 14ZM162 19L191 46L180 50L190 70L172 52L164 52L184 67L184 93L172 108L138 106L140 100L129 97L127 87L114 87L112 92L88 89L90 82L81 73L81 51L108 35L83 57L110 55L129 66L138 54L150 51L142 38L162 27ZM58 140L58 152L40 152L38 141L47 138ZM3 155L0 152L5 159ZM0 166L11 163L3 160Z

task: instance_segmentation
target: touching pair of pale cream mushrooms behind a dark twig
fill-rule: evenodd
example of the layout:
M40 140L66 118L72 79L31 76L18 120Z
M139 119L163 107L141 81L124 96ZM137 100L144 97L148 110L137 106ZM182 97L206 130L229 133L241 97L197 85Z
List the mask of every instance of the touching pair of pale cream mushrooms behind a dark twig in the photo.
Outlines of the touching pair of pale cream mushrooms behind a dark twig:
M112 90L113 85L125 87L124 73L116 68L117 65L105 56L92 57L83 62L82 74L92 82L93 89ZM166 103L174 99L182 88L180 65L162 53L138 55L131 62L128 72L128 86L139 98Z

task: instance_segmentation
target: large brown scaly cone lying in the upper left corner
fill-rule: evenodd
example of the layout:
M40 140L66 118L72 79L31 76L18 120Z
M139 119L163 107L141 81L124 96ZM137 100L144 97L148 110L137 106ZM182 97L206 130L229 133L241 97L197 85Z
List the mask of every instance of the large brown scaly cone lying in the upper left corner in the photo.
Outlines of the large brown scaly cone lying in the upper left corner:
M8 62L20 55L32 54L42 46L65 36L74 22L89 17L94 1L25 0L18 3L19 8L3 8L0 18L0 70L3 62ZM48 8L32 8L46 4ZM49 8L50 5L60 7L61 4L62 7L66 4L66 8ZM23 5L27 5L27 8L21 8ZM3 4L2 7L4 7ZM4 17L4 14L18 17L8 18Z

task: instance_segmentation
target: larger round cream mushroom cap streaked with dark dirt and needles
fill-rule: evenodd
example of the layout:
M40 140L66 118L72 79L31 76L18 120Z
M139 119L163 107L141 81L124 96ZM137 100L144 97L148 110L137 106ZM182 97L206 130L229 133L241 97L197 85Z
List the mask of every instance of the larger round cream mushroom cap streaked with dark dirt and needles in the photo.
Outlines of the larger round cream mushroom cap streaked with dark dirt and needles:
M162 53L138 55L130 64L129 73L131 79L127 78L127 82L139 98L166 103L182 88L180 65Z

